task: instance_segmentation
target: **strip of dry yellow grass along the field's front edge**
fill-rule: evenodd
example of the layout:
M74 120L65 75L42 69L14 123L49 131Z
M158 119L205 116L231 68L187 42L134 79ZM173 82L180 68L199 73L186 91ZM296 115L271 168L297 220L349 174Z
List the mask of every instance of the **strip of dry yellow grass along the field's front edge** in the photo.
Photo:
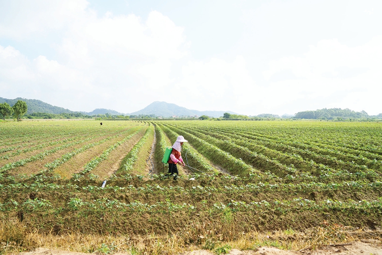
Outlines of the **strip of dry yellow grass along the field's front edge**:
M380 235L378 232L377 234ZM174 233L164 236L148 234L145 236L112 236L98 234L83 234L70 232L56 235L51 231L40 234L38 231L29 231L20 222L0 222L0 254L11 254L20 251L29 251L37 247L51 249L94 252L104 254L115 252L128 252L131 254L176 254L195 249L216 250L219 247L229 246L240 250L256 250L260 246L274 246L281 249L300 250L305 248L319 248L334 243L344 243L357 240L358 237L375 236L362 229L349 231L346 227L334 225L328 228L318 227L298 232L292 229L284 231L243 233L240 238L228 242L219 241L219 235L210 235L202 239L201 243L190 244L186 233Z

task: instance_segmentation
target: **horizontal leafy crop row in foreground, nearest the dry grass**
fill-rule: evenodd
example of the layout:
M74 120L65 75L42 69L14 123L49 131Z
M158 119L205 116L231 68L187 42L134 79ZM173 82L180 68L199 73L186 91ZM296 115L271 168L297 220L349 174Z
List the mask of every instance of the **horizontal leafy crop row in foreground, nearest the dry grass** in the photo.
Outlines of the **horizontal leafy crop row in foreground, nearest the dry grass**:
M15 200L6 202L4 204L0 203L0 211L7 211L13 209L24 210L26 212L33 212L38 209L46 210L46 207L52 207L52 203L44 199L28 199L27 201L20 203ZM192 204L176 204L170 201L160 201L155 204L141 203L139 201L124 203L116 199L97 199L91 202L83 201L80 198L70 198L67 203L69 210L83 210L83 211L105 211L106 209L118 210L120 212L127 211L138 211L138 212L152 212L152 213L171 213L181 210L189 210L190 212L195 212L197 210L203 210L202 208L197 208L197 205ZM60 209L60 208L58 208ZM206 208L207 209L207 208ZM296 198L290 201L266 201L262 200L259 202L242 202L231 200L229 203L215 203L213 207L208 208L210 214L216 214L221 211L229 210L231 212L245 212L245 211L257 211L257 210L272 210L277 211L281 214L288 214L295 211L310 211L310 210L333 210L333 211L344 211L346 213L353 213L353 211L361 211L361 213L382 213L382 200L373 201L333 201L326 200L315 202L309 199ZM62 209L61 209L62 210Z

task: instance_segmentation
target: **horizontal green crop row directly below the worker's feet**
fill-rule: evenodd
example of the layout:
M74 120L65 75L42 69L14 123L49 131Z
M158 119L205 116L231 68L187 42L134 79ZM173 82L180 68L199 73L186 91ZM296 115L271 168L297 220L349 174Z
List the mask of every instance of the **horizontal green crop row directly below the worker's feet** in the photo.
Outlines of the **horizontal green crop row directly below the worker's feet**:
M142 182L143 185L143 182ZM253 192L289 192L289 193L299 193L309 194L311 192L327 192L327 191L375 191L382 192L382 182L342 182L342 183L300 183L300 184L269 184L269 183L247 183L234 185L227 182L227 184L222 184L221 186L201 186L196 183L189 187L181 186L166 186L159 184L145 184L143 186L136 187L134 185L127 185L125 187L119 186L106 186L102 188L101 186L87 185L79 187L76 184L56 184L56 183L45 183L45 182L34 182L32 184L26 183L9 183L0 184L0 188L3 192L12 192L17 190L28 190L28 192L38 192L38 191L68 191L73 190L76 192L86 191L86 192L103 192L110 193L113 191L122 191L123 194L151 194L151 193L165 193L165 194L245 194ZM115 194L117 195L117 194Z

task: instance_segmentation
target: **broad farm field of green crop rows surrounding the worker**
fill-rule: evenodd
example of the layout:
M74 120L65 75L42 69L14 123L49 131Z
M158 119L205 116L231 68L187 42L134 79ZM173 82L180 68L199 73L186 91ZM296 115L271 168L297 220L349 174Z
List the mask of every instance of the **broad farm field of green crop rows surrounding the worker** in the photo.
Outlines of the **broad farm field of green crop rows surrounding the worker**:
M161 159L178 135L175 181ZM109 236L78 251L147 254L382 238L382 123L25 121L0 137L2 252L76 234Z

